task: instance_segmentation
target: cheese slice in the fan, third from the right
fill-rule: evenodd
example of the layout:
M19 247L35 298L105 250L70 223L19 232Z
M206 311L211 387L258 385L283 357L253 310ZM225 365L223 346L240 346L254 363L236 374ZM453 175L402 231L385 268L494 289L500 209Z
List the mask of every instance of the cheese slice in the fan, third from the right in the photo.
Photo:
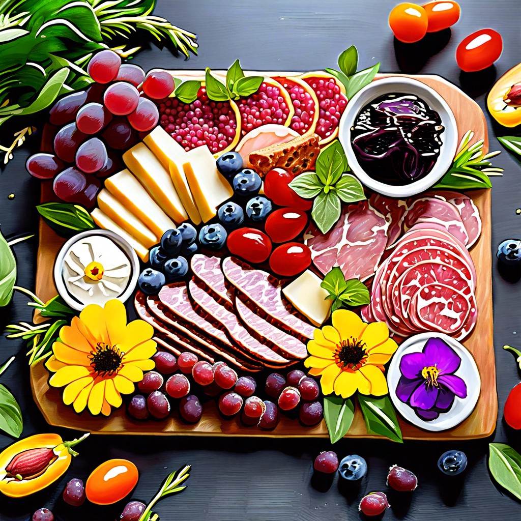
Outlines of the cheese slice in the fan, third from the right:
M123 161L173 221L179 224L188 219L170 174L150 148L144 143L138 143L123 154Z

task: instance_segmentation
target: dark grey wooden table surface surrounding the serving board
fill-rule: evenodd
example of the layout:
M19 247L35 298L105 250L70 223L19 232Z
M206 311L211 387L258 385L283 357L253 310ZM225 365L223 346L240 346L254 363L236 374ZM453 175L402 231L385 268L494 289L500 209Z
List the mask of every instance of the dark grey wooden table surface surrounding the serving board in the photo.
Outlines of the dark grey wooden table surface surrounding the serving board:
M133 63L152 67L227 68L239 57L243 68L263 70L314 70L335 67L338 54L351 44L358 47L361 67L381 61L381 71L433 73L452 81L467 92L485 111L489 120L490 149L501 148L495 135L508 130L492 125L485 98L494 80L521 59L521 11L518 0L462 0L462 17L452 29L450 40L434 56L423 45L395 45L387 24L395 0L159 0L156 14L181 27L199 33L200 54L184 62L156 47L141 52ZM504 40L504 51L494 67L484 73L465 74L458 69L454 53L469 33L491 27ZM444 42L433 38L431 46ZM4 129L5 130L5 129ZM5 142L10 138L10 132ZM4 139L2 139L4 143ZM36 231L34 209L39 200L39 182L25 169L27 156L36 151L39 138L29 138L0 174L0 223L8 237ZM494 163L505 169L504 177L493 180L492 249L504 239L521 236L521 165L503 152ZM15 199L8 200L14 193ZM14 247L18 259L18 284L34 287L35 239ZM490 480L487 458L491 441L511 444L521 451L521 433L508 428L503 406L520 375L513 356L503 344L521 345L519 297L521 282L501 278L494 262L494 344L498 375L498 426L490 439L452 444L450 442L410 442L342 440L334 446L340 457L359 454L369 464L369 476L358 491L345 493L338 480L326 492L312 486L312 462L320 451L329 450L328 440L190 437L95 437L80 447L81 455L55 485L22 500L0 499L0 519L27 519L36 508L46 506L63 521L112 520L119 518L122 504L113 507L67 506L61 492L72 477L86 479L97 464L111 457L132 460L140 469L133 494L147 502L163 478L185 463L193 465L189 487L177 497L167 498L155 509L164 521L308 521L358 519L357 505L364 493L387 489L389 466L397 463L412 469L419 478L412 497L390 494L391 510L386 519L445 521L446 519L514 521L521 517L521 504ZM6 324L30 320L26 299L15 295L14 302L0 309L0 330ZM484 346L485 347L485 346ZM16 354L16 361L0 381L18 399L24 415L22 436L54 432L34 405L29 386L29 369L21 341L0 337L0 361ZM492 368L491 368L492 370ZM521 404L520 404L521 406ZM57 429L64 438L76 433ZM0 435L0 448L13 440ZM469 458L464 482L441 476L436 468L445 450L461 449ZM125 502L123 502L124 504Z

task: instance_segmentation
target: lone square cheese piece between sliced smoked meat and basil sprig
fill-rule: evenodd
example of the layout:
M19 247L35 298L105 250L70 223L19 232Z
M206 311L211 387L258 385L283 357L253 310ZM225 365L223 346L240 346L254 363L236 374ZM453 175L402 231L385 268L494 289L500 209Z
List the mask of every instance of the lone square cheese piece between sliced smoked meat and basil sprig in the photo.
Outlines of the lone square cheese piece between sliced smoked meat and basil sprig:
M320 287L320 282L322 279L307 269L282 288L284 296L316 327L327 320L332 304L331 299L325 300L329 293Z

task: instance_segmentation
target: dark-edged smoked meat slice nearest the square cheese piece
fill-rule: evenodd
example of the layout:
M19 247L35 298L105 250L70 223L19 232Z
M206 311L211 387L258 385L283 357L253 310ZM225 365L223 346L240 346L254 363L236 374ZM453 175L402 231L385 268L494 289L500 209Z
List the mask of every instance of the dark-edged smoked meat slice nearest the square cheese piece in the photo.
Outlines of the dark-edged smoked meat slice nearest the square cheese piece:
M289 302L282 297L281 280L266 271L252 268L237 257L225 258L222 271L238 290L241 300L256 306L268 321L301 338L313 338L315 328L297 316Z

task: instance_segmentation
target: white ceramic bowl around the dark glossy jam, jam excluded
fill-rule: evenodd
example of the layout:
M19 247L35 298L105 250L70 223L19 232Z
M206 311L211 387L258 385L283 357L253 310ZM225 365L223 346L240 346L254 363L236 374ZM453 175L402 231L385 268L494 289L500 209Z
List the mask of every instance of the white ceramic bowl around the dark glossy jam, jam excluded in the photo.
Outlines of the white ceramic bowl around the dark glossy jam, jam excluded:
M439 114L441 124L445 128L440 135L443 142L440 155L432 170L418 181L401 186L382 183L367 175L358 164L351 146L351 127L354 125L360 111L377 97L393 92L415 94L420 97L432 110ZM351 170L367 188L390 197L408 197L428 190L449 170L457 150L457 126L451 108L435 90L420 81L393 76L373 81L353 96L340 119L339 139L344 147Z

